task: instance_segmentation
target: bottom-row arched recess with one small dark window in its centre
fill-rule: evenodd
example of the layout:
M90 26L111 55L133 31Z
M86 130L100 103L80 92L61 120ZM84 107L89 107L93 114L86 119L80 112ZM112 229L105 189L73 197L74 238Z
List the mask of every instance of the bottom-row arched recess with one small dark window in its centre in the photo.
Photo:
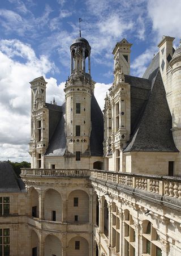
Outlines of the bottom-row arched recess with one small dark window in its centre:
M83 237L74 237L68 242L67 256L88 256L89 244Z

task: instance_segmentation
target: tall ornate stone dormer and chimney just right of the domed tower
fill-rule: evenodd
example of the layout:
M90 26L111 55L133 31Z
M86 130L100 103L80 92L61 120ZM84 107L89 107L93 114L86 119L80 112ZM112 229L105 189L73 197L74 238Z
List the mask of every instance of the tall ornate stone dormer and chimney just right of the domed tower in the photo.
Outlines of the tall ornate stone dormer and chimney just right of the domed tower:
M130 84L125 75L130 74L130 43L123 39L115 45L114 82L105 99L105 140L104 155L113 155L109 168L117 171L123 169L123 146L130 140L131 99Z

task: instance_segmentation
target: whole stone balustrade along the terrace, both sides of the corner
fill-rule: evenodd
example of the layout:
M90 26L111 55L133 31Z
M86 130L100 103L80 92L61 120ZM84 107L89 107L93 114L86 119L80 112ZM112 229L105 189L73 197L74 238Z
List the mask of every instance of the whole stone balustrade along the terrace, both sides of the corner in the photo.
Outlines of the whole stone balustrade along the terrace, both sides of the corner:
M21 177L83 177L181 199L181 177L88 169L21 169Z

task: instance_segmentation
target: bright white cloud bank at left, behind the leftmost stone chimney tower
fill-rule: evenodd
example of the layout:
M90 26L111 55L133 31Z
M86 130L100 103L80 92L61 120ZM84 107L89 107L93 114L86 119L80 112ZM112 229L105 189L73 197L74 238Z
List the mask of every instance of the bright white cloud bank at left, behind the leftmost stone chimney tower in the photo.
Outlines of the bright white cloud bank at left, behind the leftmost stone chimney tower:
M22 62L16 60L21 57ZM54 69L46 56L36 57L28 44L19 40L0 41L0 158L21 161L29 159L31 89L29 81L46 75ZM46 79L46 77L45 77ZM63 101L62 89L53 78L48 91L55 91L59 103ZM59 90L58 90L58 89ZM61 93L59 93L61 92ZM49 98L49 96L48 96Z

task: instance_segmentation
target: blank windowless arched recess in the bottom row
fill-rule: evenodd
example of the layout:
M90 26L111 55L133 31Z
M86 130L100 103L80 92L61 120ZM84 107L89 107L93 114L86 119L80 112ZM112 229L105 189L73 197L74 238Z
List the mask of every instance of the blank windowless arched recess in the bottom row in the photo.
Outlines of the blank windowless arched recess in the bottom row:
M62 255L62 245L61 241L52 235L48 235L45 238L45 256L61 256Z

